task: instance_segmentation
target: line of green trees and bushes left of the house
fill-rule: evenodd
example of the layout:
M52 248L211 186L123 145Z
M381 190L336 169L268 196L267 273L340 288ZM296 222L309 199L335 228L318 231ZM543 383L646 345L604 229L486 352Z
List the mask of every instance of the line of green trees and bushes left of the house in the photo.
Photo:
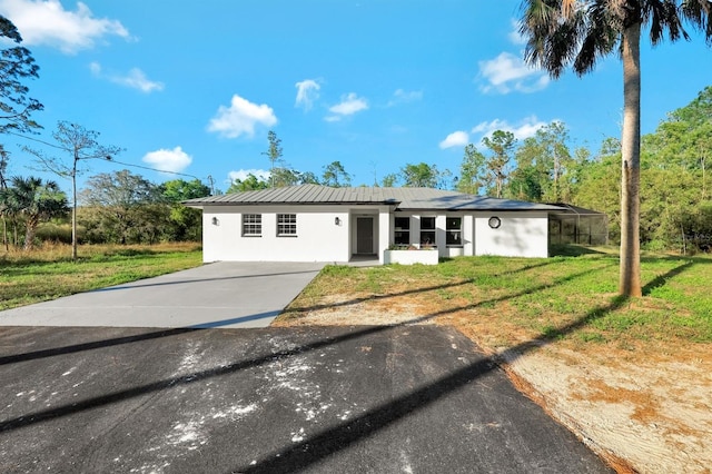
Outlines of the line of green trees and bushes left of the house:
M79 192L77 239L81 244L200 241L199 209L180 203L206 197L198 179L154 184L127 169L87 179ZM0 191L3 246L32 248L39 241L71 244L67 195L56 181L13 177Z

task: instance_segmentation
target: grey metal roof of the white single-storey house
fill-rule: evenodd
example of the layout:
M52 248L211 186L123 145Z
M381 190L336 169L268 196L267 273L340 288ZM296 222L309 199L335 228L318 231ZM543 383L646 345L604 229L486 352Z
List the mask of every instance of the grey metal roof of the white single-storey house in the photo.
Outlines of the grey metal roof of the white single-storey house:
M209 196L184 201L186 206L245 205L394 205L403 210L546 210L561 211L557 206L513 199L473 196L432 188L332 188L299 185Z

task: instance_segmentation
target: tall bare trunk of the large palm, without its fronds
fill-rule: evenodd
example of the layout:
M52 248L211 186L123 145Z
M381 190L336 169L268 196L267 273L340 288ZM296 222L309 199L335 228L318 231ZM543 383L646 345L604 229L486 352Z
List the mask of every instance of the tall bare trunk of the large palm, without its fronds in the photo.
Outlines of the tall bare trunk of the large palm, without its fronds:
M641 23L623 31L623 136L621 177L621 275L623 296L642 296L640 243Z

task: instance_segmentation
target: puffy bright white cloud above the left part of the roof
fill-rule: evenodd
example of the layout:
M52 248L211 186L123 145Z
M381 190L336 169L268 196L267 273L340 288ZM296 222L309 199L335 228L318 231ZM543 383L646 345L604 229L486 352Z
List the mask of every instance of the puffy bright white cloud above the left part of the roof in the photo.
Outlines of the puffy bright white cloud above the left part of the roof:
M237 138L240 135L253 137L257 125L271 127L275 124L277 117L271 107L266 103L258 106L235 95L230 107L218 108L216 116L208 124L208 131L215 131L226 138Z

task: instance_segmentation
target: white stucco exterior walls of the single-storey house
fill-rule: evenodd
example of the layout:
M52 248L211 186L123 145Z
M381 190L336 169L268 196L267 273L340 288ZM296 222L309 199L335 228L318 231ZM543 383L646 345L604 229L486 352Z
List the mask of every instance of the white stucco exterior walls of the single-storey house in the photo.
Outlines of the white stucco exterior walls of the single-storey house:
M261 215L261 237L243 236L243 213ZM277 214L297 215L296 237L277 236ZM411 243L419 244L421 216L436 217L436 245L441 257L498 255L547 257L546 213L398 213L411 217ZM348 261L356 254L356 219L374 220L374 253L394 243L394 214L388 206L206 206L202 213L204 261ZM446 216L463 218L463 246L448 248ZM492 229L488 219L500 217ZM338 217L339 224L335 219ZM212 224L212 219L217 224Z

